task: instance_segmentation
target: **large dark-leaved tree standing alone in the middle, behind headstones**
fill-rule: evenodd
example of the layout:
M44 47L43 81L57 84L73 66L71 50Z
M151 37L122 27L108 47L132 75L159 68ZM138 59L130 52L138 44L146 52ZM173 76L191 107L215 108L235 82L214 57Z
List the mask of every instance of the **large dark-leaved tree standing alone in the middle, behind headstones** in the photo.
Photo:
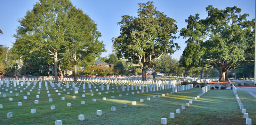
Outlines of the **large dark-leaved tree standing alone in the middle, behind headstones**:
M153 2L139 3L138 16L122 16L121 35L113 38L113 49L118 58L142 69L146 80L147 69L161 56L179 49L176 39L177 25L173 18L157 11ZM174 50L173 48L176 49Z

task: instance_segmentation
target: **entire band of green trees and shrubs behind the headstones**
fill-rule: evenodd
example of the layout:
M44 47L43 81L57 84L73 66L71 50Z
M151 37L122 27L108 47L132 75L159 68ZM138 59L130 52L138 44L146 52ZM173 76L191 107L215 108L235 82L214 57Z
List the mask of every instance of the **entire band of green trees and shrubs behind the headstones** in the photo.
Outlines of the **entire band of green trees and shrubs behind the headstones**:
M1 75L122 75L161 71L167 76L253 77L255 19L241 9L221 10L209 5L207 18L190 15L179 36L186 48L179 61L171 54L176 43L176 20L160 12L153 2L138 3L136 17L123 15L120 35L112 39L113 52L101 57L105 45L99 41L97 24L69 0L40 0L19 19L12 48L0 45ZM0 34L3 32L0 30ZM96 60L110 66L95 65ZM80 68L82 67L82 68ZM54 69L53 69L54 68Z

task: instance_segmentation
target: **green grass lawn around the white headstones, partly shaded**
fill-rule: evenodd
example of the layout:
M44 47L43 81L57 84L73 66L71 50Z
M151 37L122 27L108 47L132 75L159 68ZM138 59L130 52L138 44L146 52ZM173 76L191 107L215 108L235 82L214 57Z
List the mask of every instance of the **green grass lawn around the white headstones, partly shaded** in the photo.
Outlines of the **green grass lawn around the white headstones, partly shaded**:
M110 85L110 90L107 90L108 94L106 94L106 90L101 91L99 86L97 88L92 86L93 92L89 92L86 84L86 93L83 93L81 84L79 93L74 94L74 89L70 90L72 86L69 89L62 86L63 89L66 89L63 91L55 85L58 90L55 92L48 85L50 93L46 93L45 84L42 82L40 94L37 94L37 84L30 95L27 95L32 85L22 93L19 92L19 89L18 91L14 91L14 88L8 90L13 91L13 94L7 93L6 88L0 88L0 104L3 105L3 108L0 109L0 124L54 125L55 120L62 120L63 125L160 125L162 117L167 118L168 125L245 124L245 118L243 118L232 90L210 90L185 110L181 110L181 114L176 114L177 108L181 109L182 105L199 95L202 89L193 88L158 98L158 94L162 95L172 89L144 93L141 93L140 90L121 92L121 86L114 85L114 93L112 93L112 85ZM120 92L117 92L116 87L119 87ZM95 89L99 91L96 92ZM137 91L140 93L137 94ZM70 94L68 95L66 92L70 92ZM135 92L135 94L132 95L131 92ZM19 93L19 96L15 96L15 93ZM61 95L57 95L57 93L61 93ZM94 96L90 96L91 93L94 93ZM126 93L129 95L125 95ZM252 119L252 124L256 124L256 99L246 91L237 90L237 93L247 109L246 112L249 113L249 118ZM2 97L3 94L7 94L7 97ZM51 97L47 97L47 94L51 94ZM82 97L82 94L85 94L85 97ZM119 94L122 94L122 97L119 97ZM40 95L40 98L36 98L36 95ZM73 99L72 95L75 95L76 99ZM112 95L115 96L114 99L111 99ZM27 96L27 100L24 100L23 96ZM153 96L156 96L156 99L153 99ZM10 97L13 98L13 101L9 101ZM65 97L65 100L61 100L61 97ZM106 100L102 100L103 97L106 97ZM150 97L151 100L146 100L147 97ZM53 102L49 102L49 98L52 98ZM97 101L92 102L92 99ZM139 102L140 99L144 99L144 102ZM39 104L34 104L34 100L39 100ZM85 101L85 105L80 104L81 101ZM136 105L131 105L132 101L136 101ZM17 102L22 102L22 106L17 106ZM72 103L72 107L67 107L67 103ZM123 103L127 103L127 108L122 108ZM53 105L56 106L56 109L50 110L50 106ZM110 110L112 106L116 107L116 111ZM36 114L31 114L33 108L37 109ZM102 116L96 115L97 110L102 110ZM13 113L12 118L7 118L8 112ZM175 118L169 118L169 113L175 113ZM84 121L78 120L80 114L85 115Z

